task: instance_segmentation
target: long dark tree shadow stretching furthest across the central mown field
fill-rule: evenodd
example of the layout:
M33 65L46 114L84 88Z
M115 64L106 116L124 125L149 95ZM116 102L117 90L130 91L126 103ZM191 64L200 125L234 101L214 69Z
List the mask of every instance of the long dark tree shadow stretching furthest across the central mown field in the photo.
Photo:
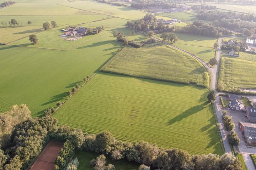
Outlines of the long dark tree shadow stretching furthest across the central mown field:
M194 113L202 111L205 108L205 105L206 105L206 102L202 103L201 105L191 107L190 109L186 110L185 112L177 115L175 118L172 118L166 125L169 126L177 121L181 121L181 120L193 115Z

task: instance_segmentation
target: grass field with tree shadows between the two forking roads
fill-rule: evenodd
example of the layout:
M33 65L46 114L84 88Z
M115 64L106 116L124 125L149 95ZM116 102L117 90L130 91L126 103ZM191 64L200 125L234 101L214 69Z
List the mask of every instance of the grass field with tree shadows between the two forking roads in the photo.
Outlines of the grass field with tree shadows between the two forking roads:
M211 58L214 58L214 42L217 41L214 37L209 36L199 36L199 35L191 35L191 34L179 34L175 33L178 37L178 41L175 42L174 46L179 47L187 52L190 52L206 62L208 62ZM161 34L154 35L159 39Z

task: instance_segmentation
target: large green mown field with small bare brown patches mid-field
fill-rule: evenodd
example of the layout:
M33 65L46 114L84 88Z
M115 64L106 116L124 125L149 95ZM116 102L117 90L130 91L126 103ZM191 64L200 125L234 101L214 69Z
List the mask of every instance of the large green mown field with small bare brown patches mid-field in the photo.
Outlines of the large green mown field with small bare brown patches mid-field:
M124 141L222 154L207 94L197 86L97 73L53 116L59 124L94 134L108 130Z

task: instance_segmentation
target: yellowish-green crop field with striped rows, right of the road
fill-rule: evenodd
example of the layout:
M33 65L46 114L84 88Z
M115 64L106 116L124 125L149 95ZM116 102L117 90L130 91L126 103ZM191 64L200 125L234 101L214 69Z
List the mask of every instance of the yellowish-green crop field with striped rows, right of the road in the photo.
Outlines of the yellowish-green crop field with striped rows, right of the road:
M231 87L255 88L255 62L222 57L219 63L218 83L229 91Z

